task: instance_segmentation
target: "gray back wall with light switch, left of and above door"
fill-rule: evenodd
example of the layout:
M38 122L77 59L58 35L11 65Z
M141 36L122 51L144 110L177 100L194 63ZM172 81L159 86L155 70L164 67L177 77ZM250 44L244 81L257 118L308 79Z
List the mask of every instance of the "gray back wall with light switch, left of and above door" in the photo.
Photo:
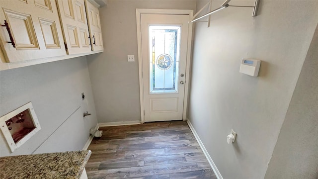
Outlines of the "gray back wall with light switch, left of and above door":
M104 52L87 57L98 122L140 121L136 8L195 9L196 0L109 0L100 8ZM135 62L127 62L135 55Z

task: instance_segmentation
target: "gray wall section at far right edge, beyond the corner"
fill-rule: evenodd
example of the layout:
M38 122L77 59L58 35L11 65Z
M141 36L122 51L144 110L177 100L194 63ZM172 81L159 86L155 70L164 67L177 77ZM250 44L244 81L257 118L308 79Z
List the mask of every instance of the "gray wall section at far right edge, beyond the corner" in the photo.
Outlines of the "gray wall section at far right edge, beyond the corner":
M318 179L318 26L265 179Z

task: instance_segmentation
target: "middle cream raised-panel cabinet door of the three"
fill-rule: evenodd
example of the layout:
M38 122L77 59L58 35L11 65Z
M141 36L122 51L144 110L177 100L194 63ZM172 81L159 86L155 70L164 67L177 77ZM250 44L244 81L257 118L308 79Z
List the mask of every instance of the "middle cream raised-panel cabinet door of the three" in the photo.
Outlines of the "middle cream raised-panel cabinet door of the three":
M68 54L89 53L84 0L57 0Z

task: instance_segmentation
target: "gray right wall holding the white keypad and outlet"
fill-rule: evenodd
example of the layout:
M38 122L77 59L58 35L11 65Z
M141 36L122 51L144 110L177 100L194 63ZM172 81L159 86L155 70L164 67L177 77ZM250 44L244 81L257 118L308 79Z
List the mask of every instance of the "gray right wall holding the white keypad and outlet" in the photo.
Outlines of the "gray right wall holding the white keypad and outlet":
M204 4L198 1L197 10ZM229 7L211 16L209 28L196 23L189 119L224 179L264 178L317 26L317 9L314 0L261 0L254 18L251 8ZM239 73L241 58L262 60L259 77ZM238 134L233 145L226 141L231 128Z

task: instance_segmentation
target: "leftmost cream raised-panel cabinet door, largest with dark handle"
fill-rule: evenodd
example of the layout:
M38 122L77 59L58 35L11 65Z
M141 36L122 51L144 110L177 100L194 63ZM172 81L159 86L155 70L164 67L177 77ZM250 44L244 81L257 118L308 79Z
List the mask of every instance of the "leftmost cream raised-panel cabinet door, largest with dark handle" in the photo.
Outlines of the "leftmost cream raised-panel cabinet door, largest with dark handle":
M55 0L1 0L0 7L6 62L66 55Z

